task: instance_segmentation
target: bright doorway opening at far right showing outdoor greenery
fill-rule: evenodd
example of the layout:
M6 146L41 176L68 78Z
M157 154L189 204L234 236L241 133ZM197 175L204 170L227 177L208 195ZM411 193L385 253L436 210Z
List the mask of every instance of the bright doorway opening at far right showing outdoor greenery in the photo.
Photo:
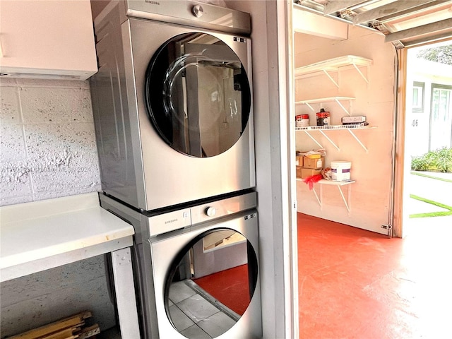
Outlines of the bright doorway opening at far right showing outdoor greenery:
M403 237L452 215L452 40L409 48L405 60Z

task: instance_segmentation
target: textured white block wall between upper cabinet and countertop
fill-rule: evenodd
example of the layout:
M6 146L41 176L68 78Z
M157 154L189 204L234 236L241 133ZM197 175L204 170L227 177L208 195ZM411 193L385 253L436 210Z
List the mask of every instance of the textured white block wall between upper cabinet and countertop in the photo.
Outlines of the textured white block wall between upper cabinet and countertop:
M100 189L88 81L0 86L0 205Z

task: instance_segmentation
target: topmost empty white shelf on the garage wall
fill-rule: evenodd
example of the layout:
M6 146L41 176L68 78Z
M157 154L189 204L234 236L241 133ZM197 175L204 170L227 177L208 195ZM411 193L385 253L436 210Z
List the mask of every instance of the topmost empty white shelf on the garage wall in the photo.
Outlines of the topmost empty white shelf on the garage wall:
M307 66L301 66L295 69L295 78L307 76L309 74L321 71L339 71L339 69L347 66L370 66L373 64L371 59L357 57L356 55L345 55L334 59L316 62Z

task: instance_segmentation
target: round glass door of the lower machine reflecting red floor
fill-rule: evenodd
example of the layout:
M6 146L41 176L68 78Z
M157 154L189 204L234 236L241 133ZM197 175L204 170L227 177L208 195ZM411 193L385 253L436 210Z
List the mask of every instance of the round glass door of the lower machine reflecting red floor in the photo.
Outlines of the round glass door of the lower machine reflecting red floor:
M239 232L201 234L179 253L167 277L165 307L172 326L190 339L228 331L251 302L257 269L256 251Z

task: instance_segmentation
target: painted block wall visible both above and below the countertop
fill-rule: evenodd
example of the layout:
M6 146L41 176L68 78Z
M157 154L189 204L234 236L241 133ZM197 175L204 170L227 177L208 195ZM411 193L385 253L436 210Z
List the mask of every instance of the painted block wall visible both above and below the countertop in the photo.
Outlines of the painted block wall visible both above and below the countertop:
M0 206L100 190L88 81L0 79L0 174ZM103 256L6 281L0 292L1 338L84 310L101 329L116 322Z

